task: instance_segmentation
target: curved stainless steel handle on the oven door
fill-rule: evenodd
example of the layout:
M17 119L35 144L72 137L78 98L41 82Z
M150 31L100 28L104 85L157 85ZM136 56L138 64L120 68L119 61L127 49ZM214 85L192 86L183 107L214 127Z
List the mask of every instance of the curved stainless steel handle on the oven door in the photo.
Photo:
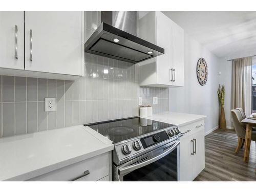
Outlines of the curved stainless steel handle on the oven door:
M177 141L172 147L170 147L167 151L165 151L164 153L156 156L156 157L153 157L152 159L148 159L147 161L144 161L142 163L138 163L138 164L135 164L135 165L130 165L130 166L126 166L126 167L123 167L123 168L119 168L118 169L118 172L119 172L119 175L124 175L126 173L129 173L129 172L132 172L133 170L137 169L137 168L140 168L140 167L143 167L143 166L146 166L148 164L151 164L159 159L161 159L162 157L168 155L170 152L174 151L175 148L180 144L180 141Z

